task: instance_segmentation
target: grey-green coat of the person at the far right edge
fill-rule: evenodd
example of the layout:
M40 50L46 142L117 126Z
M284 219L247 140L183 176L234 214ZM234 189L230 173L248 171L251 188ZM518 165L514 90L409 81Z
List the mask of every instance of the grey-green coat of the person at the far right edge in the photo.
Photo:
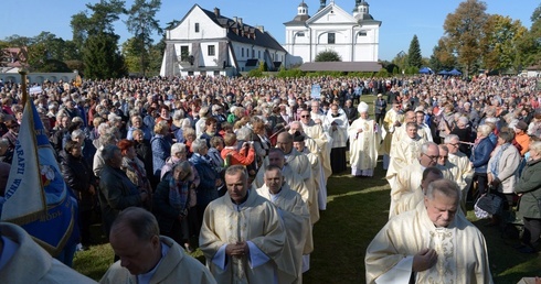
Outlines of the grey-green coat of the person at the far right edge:
M515 186L515 193L520 197L519 212L527 218L541 218L541 159L529 161L526 164L519 182Z

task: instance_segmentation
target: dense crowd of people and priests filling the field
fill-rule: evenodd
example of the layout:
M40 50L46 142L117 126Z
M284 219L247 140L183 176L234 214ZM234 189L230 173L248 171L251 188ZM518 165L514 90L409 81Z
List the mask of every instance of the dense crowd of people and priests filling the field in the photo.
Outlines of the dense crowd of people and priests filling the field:
M320 94L311 94L314 84ZM95 242L89 227L98 215L120 260L104 283L173 280L179 265L190 265L201 283L301 283L317 250L311 230L327 209L328 178L348 168L370 178L376 166L391 186L390 220L367 251L367 281L391 280L399 269L418 282L489 283L485 240L465 218L466 201L501 196L505 209L490 226L519 204L519 250L539 250L535 84L484 75L155 77L47 81L32 99L79 203L82 249ZM21 94L18 84L0 84L4 173ZM404 227L411 222L418 228ZM449 254L446 245L468 250ZM206 267L179 261L197 247Z

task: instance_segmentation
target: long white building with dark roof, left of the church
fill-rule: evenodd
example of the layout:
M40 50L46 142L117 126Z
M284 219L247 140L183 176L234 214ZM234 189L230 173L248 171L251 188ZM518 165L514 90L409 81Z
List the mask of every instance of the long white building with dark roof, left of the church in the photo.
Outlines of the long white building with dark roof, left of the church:
M265 62L269 70L285 64L287 52L263 26L251 26L194 4L166 31L161 76L236 75Z

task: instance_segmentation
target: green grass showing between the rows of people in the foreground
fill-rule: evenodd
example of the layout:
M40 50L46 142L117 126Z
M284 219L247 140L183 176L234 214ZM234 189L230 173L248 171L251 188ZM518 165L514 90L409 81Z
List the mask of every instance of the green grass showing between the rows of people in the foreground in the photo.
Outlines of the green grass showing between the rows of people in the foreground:
M363 100L371 103L373 98ZM371 178L354 178L348 172L329 178L328 206L314 227L315 251L304 283L364 283L364 252L389 216L390 187L383 176L380 164ZM541 254L515 251L517 240L501 238L498 228L484 227L486 220L477 220L471 210L468 219L485 234L495 283L517 283L524 276L541 275ZM203 260L200 250L192 255ZM110 247L102 244L78 252L74 266L99 280L112 262Z

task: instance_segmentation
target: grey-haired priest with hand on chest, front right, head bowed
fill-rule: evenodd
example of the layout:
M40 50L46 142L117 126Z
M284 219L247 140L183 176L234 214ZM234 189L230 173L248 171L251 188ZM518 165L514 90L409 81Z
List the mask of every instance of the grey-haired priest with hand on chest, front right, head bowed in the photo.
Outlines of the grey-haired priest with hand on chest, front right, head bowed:
M459 210L455 182L431 183L423 203L380 230L364 258L367 283L494 283L482 233Z

